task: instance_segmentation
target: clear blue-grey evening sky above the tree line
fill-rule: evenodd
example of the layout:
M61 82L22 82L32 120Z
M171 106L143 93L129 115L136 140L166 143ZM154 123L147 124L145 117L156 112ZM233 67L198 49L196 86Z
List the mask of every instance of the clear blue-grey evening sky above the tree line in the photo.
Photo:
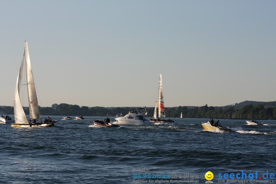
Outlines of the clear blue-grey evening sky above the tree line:
M159 74L165 107L275 101L275 7L274 0L1 0L0 105L13 106L25 40L40 106L154 107Z

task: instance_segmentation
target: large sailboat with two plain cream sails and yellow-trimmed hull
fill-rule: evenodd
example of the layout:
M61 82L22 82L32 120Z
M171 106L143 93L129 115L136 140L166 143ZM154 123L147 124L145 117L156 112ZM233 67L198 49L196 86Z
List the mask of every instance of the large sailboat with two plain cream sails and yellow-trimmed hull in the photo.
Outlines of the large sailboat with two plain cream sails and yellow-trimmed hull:
M25 112L23 110L21 99L20 99L20 90L21 90L21 81L23 74L24 60L26 65L26 79L27 79L27 89L28 89L28 99L29 99L29 111L30 111L30 121L27 120ZM12 127L31 127L31 126L54 126L54 123L57 121L51 122L41 122L40 111L38 107L38 101L36 97L36 88L33 79L33 72L30 62L28 43L25 41L25 49L23 53L23 58L21 62L21 67L17 76L15 91L14 91L14 120L15 123L12 123ZM40 119L40 122L36 123L36 120ZM33 120L33 122L31 122Z

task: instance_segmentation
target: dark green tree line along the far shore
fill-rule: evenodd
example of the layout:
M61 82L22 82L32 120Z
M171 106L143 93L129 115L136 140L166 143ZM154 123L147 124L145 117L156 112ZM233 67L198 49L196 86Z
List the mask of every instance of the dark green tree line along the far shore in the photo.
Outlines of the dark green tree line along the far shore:
M26 114L29 114L29 107L23 107ZM145 107L148 110L148 117L153 117L154 107ZM87 107L61 103L56 109L52 107L40 107L42 115L57 116L125 116L132 109L137 107ZM12 106L0 106L0 111L13 114ZM166 117L177 118L182 113L183 118L229 118L229 119L276 119L276 107L265 108L263 104L256 106L245 105L241 109L235 109L234 105L225 107L213 107L206 104L201 107L188 108L186 106L165 108Z

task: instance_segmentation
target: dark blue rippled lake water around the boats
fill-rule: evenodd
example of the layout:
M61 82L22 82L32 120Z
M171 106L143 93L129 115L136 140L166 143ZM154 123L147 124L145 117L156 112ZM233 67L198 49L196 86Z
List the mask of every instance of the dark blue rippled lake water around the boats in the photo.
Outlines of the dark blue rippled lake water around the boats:
M243 171L247 179L256 171L258 177L266 171L276 174L276 121L255 126L245 120L220 120L226 127L231 125L228 133L204 131L200 124L208 119L98 128L93 120L105 117L85 118L52 116L61 120L55 127L0 124L0 183L135 183L145 174L147 183L176 181L162 181L162 177L150 181L149 174L178 176L178 180L198 175L194 180L205 183L207 171L213 173L214 183L220 183L219 173Z

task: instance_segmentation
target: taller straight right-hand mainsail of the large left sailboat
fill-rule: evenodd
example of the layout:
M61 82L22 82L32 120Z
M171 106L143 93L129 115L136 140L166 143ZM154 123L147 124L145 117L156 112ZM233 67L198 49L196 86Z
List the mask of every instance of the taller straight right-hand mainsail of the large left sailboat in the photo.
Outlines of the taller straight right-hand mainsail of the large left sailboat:
M40 119L40 112L36 97L36 88L33 80L32 66L29 56L28 43L25 41L26 75L29 98L30 119Z

